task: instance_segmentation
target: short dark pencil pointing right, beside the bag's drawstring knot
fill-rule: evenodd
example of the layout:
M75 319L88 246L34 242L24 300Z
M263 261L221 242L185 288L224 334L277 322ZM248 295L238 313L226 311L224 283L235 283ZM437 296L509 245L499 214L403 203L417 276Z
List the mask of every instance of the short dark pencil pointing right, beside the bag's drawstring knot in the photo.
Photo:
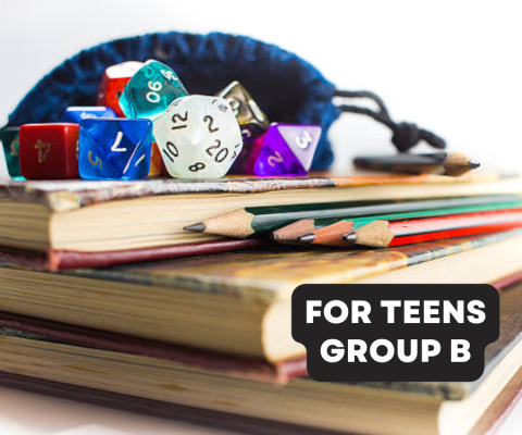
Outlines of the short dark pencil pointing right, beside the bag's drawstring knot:
M481 163L461 152L434 152L430 154L362 156L353 160L358 169L406 174L442 174L460 176Z

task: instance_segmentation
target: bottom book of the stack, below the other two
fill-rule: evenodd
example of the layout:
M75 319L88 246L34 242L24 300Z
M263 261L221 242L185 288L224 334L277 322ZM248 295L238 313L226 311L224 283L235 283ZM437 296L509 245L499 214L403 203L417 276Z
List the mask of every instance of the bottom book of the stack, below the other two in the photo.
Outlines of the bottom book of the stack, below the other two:
M67 335L66 325L8 314L0 314L0 372L4 373L0 373L0 380L16 385L21 382L16 376L29 376L23 380L30 386L32 377L40 377L45 382L33 382L36 388L44 385L52 393L57 385L71 384L62 386L62 390L75 391L79 398L98 396L101 403L109 400L107 393L111 393L124 395L116 397L130 408L141 403L147 409L147 401L139 399L148 399L164 403L163 409L174 403L189 407L188 411L224 412L239 421L256 419L287 428L285 425L375 435L470 434L474 427L490 425L495 418L489 415L481 422L481 417L488 410L495 415L501 413L507 405L501 407L500 402L513 400L520 388L521 306L521 285L501 293L499 339L487 346L485 371L471 383L331 384L289 376L285 385L277 385L266 377L252 376L253 365L237 364L237 359L232 358L226 365L227 357L223 356L207 353L204 361L185 358L187 353L182 352L185 357L181 358L174 347L163 353L152 350L150 356L129 353L123 348L116 350L117 345L110 343L132 338L109 336L103 345L92 340L102 333L73 328L73 334ZM154 349L156 345L150 346ZM91 389L78 393L78 386ZM502 397L505 388L509 399ZM224 417L216 415L220 418ZM220 421L214 423L219 425Z

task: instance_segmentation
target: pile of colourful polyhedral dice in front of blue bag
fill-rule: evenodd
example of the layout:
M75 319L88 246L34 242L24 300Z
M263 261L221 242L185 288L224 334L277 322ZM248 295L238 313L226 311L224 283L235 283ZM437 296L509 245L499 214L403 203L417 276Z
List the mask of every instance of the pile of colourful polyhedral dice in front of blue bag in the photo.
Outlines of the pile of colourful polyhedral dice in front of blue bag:
M215 96L189 95L154 60L108 67L98 105L66 108L62 121L0 132L12 177L298 176L321 136L316 125L269 125L238 82Z

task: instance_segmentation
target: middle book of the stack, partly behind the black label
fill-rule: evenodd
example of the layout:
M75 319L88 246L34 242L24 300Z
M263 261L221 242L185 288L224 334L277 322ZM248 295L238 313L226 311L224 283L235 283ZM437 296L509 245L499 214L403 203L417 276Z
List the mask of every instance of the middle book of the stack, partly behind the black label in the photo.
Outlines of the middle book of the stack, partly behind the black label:
M519 231L382 250L227 252L47 273L0 265L2 311L247 358L304 355L291 293L312 283L493 283L522 270ZM408 269L406 276L394 274Z

